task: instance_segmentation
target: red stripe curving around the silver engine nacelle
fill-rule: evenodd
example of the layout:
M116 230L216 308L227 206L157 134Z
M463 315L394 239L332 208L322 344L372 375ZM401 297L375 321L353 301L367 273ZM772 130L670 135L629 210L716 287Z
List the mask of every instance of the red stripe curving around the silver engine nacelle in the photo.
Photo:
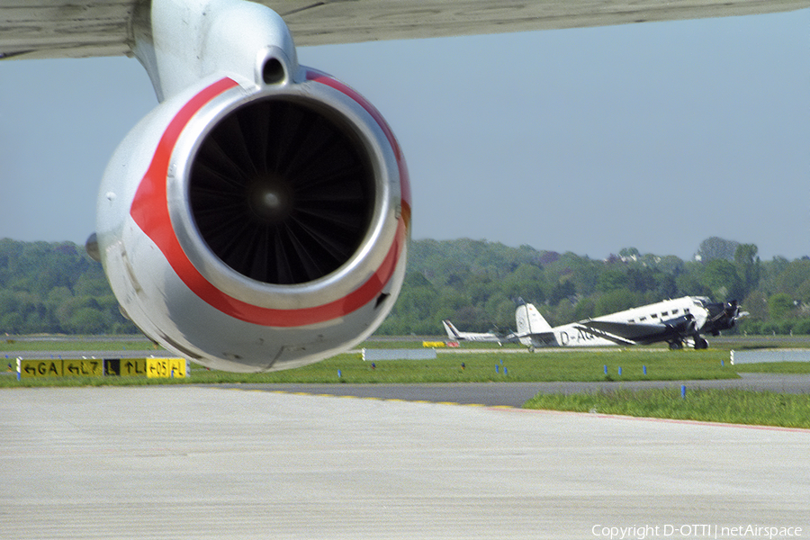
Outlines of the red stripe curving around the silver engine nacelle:
M397 227L396 237L388 250L388 254L383 259L383 264L377 268L374 275L369 277L365 284L362 284L343 298L311 308L274 310L233 298L205 279L185 255L183 247L180 246L169 217L166 196L166 177L172 152L175 149L177 139L179 139L180 134L188 122L191 121L193 115L202 109L203 105L209 103L211 99L236 85L236 81L230 78L220 79L204 88L199 94L194 95L177 112L157 143L152 162L149 164L147 173L141 180L138 191L132 200L130 216L140 229L155 242L164 257L166 257L166 261L174 269L175 274L194 294L212 307L235 319L270 327L295 327L337 319L360 309L383 291L383 287L391 279L397 267L402 249L407 241L407 229L410 222L410 198L406 200L403 197L402 215ZM354 95L348 93L347 95L354 99ZM362 105L363 101L358 103ZM379 122L382 119L378 120L377 116L374 116L374 120ZM381 126L385 126L384 121L382 121ZM386 129L386 127L383 127L383 130ZM393 148L399 154L395 141ZM399 155L397 161L401 161ZM402 168L403 166L401 166L401 170ZM407 184L407 172L404 184Z

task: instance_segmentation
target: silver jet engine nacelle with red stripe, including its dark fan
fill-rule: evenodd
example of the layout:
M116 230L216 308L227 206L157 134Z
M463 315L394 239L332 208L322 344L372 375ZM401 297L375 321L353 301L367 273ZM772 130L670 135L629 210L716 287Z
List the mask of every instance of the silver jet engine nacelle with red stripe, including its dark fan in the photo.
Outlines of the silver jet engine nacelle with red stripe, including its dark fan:
M405 273L410 192L374 107L320 72L207 76L140 121L104 173L99 255L162 346L239 372L371 334ZM269 74L269 75L268 75Z

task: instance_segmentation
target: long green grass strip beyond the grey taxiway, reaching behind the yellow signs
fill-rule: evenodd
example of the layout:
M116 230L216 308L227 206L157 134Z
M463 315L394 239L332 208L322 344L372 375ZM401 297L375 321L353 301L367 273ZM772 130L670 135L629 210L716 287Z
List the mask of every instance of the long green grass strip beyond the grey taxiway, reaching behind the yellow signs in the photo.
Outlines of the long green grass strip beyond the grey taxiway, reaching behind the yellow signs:
M718 351L576 351L440 354L435 360L364 362L357 353L268 374L231 374L193 365L187 379L143 377L0 377L0 387L160 383L536 383L729 379L738 375ZM605 374L607 366L608 374ZM644 374L644 366L647 374ZM619 367L622 374L618 373Z

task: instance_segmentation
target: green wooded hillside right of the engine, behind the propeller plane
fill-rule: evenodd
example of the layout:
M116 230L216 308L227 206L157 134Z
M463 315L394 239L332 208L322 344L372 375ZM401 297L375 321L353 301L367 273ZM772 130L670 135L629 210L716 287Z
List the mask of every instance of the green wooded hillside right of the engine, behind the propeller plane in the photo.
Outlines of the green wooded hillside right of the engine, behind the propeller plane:
M810 259L764 262L758 253L753 244L707 238L700 260L625 247L601 261L480 240L419 240L411 246L403 300L378 333L438 333L442 319L471 331L513 329L518 297L551 324L563 324L683 295L741 302L751 313L743 331L810 332ZM416 273L428 282L419 281L422 289L433 287L419 312L408 293Z

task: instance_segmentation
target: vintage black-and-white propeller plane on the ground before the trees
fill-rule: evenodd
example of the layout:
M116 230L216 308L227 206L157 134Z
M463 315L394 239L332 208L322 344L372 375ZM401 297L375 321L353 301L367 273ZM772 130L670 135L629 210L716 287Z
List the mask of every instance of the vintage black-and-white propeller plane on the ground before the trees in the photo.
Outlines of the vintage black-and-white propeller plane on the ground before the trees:
M534 305L522 302L515 311L515 338L530 350L660 341L669 343L671 349L680 349L684 344L701 349L708 347L701 334L717 336L721 330L734 328L735 321L745 315L736 301L715 303L702 296L684 296L552 328Z

